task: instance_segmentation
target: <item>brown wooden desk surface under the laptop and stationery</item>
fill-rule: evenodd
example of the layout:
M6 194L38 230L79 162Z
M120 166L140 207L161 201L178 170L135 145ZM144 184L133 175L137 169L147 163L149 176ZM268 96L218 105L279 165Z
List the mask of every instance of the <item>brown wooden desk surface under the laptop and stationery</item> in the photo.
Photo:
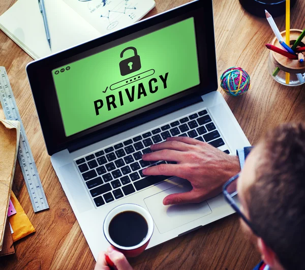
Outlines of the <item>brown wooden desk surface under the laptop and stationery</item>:
M156 8L148 16L189 1L156 2ZM13 3L15 0L2 0L0 14ZM292 28L304 28L304 10L305 4L298 1L292 9ZM225 96L250 142L257 143L267 129L280 123L305 119L304 87L280 85L267 72L268 50L264 44L273 39L273 34L266 19L246 13L237 0L215 0L214 13L219 77L231 66L240 66L251 75L249 93L241 97ZM285 29L284 17L276 22L280 30ZM50 206L49 211L34 214L17 165L13 191L37 232L17 242L16 254L1 258L0 265L2 269L93 269L93 255L46 152L25 74L25 65L31 61L31 57L0 33L0 65L9 74ZM147 250L130 262L135 269L252 269L259 259L233 215Z

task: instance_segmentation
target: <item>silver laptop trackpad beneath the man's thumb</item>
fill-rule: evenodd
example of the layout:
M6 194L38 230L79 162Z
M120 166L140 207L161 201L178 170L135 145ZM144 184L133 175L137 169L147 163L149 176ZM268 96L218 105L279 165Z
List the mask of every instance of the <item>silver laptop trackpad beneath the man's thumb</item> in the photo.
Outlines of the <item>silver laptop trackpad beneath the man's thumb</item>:
M185 182L144 199L160 233L165 233L212 213L205 201L182 205L163 205L163 199L167 195L191 190L191 184Z

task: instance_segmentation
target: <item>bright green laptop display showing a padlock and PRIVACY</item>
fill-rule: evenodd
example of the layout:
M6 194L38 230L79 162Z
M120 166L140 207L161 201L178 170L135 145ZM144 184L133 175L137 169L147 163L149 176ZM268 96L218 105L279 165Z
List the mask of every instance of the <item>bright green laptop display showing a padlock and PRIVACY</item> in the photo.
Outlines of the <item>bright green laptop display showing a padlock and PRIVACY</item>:
M199 84L194 18L54 69L52 75L66 136L177 94Z

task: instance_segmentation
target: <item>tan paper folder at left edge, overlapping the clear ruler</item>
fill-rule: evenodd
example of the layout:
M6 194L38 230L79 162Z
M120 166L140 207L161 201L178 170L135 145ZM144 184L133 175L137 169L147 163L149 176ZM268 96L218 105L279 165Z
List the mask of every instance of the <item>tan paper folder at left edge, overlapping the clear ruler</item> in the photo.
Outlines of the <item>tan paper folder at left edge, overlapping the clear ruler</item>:
M19 136L20 123L18 121L0 120L0 251L8 217Z

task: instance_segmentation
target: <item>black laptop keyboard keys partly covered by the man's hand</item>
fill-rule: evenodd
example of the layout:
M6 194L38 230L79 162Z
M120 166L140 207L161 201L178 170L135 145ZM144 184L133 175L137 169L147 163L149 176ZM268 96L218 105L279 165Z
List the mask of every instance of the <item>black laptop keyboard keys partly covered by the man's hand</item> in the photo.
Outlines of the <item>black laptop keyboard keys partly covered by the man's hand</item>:
M75 164L95 205L102 206L170 178L164 175L146 176L142 170L149 166L176 162L148 162L142 160L142 155L151 153L151 144L174 136L188 136L208 142L214 147L225 145L205 109L79 157ZM228 150L224 152L230 154Z

